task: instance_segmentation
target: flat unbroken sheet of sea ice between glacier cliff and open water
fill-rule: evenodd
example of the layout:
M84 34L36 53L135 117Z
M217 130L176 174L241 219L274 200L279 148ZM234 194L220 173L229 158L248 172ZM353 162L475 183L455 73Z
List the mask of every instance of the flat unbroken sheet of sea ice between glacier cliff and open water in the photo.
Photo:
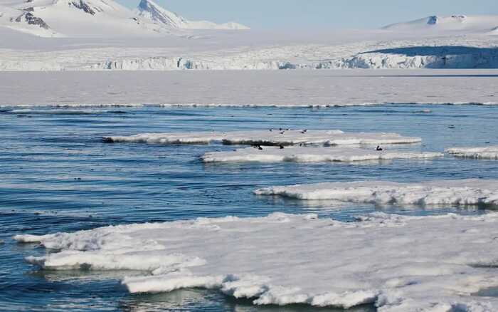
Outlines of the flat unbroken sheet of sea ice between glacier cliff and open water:
M4 58L0 56L0 63L2 60ZM0 106L143 104L333 108L390 103L497 105L496 75L494 70L406 70L400 76L400 71L382 69L120 71L80 72L78 75L64 71L29 71L1 73ZM92 92L88 93L88 90Z

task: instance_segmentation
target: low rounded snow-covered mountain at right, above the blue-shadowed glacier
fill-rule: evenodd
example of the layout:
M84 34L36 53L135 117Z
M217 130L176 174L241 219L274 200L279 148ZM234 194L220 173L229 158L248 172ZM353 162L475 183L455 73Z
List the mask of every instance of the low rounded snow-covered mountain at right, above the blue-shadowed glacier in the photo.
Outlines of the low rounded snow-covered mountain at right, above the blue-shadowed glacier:
M487 33L498 27L498 16L428 16L383 27L389 31L465 31Z

